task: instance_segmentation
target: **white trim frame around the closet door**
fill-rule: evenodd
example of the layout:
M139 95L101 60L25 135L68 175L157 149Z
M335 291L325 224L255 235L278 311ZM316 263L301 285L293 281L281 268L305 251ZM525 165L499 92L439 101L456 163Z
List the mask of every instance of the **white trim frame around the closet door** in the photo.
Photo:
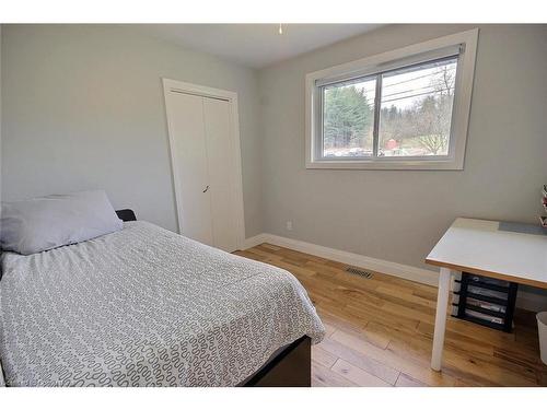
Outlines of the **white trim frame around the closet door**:
M170 155L171 155L171 173L172 173L172 184L173 190L175 192L175 207L177 214L177 226L178 233L183 232L183 198L182 192L177 187L181 184L178 178L178 164L174 151L175 140L173 127L170 122L168 115L168 99L172 92L186 93L191 95L198 95L208 98L218 98L226 101L230 104L230 126L231 126L231 145L233 150L233 157L235 159L235 207L236 207L236 226L237 226L237 248L242 249L245 242L245 213L243 203L243 175L242 175L242 163L241 163L241 138L240 138L240 115L237 109L237 93L228 90L212 89L205 85L187 83L183 81L172 80L162 78L163 83L163 96L165 99L165 117L167 121L167 133L170 142Z

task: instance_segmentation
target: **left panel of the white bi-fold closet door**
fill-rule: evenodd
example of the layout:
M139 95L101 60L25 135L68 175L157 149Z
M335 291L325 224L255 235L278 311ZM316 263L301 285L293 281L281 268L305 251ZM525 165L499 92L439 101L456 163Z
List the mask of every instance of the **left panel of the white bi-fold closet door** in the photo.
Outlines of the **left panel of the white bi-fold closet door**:
M171 92L167 120L181 233L212 246L203 98Z

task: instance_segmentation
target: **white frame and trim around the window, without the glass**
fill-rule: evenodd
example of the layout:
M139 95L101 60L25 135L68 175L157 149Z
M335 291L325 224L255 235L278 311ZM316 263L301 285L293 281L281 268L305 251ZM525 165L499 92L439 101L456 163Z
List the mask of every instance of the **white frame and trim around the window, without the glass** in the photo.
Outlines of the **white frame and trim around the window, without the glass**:
M415 44L376 56L311 72L305 78L305 152L306 168L327 169L463 169L467 126L472 103L478 28ZM457 73L452 109L449 155L383 156L324 159L318 152L322 143L321 85L358 77L374 75L458 52ZM375 119L376 124L379 119Z

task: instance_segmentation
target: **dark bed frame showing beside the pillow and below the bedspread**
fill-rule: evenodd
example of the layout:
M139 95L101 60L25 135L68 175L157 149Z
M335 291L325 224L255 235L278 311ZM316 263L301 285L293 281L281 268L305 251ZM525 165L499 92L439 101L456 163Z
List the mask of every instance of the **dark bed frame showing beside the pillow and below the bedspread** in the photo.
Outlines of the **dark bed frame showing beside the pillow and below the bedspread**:
M130 209L116 211L124 221L137 221ZM307 336L278 349L268 361L238 386L310 387L312 385L312 341Z

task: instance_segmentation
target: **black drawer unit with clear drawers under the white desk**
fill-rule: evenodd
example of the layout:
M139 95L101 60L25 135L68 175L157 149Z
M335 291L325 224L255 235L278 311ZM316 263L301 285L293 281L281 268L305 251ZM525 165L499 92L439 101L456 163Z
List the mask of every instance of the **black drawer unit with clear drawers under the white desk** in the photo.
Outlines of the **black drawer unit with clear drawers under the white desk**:
M485 278L474 273L462 272L457 313L453 316L487 326L492 329L511 332L516 302L517 283Z

